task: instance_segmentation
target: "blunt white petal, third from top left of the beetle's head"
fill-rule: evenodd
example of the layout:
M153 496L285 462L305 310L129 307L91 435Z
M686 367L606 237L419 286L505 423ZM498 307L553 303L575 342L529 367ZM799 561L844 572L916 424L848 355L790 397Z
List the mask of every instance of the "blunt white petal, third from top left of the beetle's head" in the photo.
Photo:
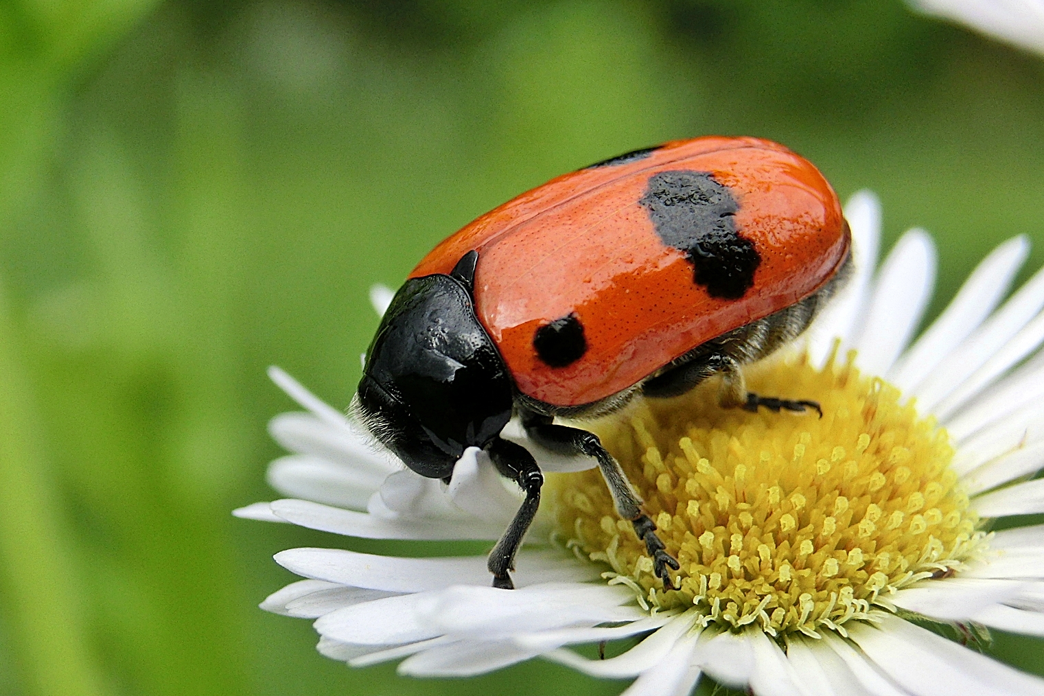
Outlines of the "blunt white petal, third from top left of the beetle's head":
M268 485L290 498L364 510L384 475L295 454L271 462L266 479Z

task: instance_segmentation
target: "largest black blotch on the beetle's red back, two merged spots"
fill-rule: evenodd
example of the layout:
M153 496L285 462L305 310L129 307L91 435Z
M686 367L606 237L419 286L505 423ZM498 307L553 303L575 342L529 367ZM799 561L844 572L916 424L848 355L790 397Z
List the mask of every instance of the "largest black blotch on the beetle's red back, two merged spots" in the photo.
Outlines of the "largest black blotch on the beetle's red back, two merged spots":
M729 188L705 171L663 171L649 176L638 201L664 244L685 253L693 280L712 297L738 299L754 285L761 256L739 236L739 205Z

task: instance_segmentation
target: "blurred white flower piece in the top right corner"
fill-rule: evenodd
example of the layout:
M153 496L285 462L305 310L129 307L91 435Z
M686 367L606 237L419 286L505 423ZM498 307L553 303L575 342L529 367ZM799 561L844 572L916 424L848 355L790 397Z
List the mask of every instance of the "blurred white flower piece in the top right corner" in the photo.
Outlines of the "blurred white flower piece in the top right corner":
M1036 53L1044 53L1042 0L908 0L928 14L953 20Z

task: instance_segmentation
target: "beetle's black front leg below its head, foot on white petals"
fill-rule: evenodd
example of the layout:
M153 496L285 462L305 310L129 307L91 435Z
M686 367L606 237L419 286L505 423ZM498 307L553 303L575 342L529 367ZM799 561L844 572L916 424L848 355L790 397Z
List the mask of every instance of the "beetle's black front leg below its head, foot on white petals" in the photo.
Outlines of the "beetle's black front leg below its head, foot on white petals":
M500 475L515 481L525 491L525 500L522 501L519 511L515 513L515 519L504 530L500 541L493 547L487 562L487 568L493 573L493 586L514 590L515 584L507 571L515 570L515 554L522 546L522 537L537 515L544 475L540 472L537 460L521 445L497 437L487 446L487 452Z

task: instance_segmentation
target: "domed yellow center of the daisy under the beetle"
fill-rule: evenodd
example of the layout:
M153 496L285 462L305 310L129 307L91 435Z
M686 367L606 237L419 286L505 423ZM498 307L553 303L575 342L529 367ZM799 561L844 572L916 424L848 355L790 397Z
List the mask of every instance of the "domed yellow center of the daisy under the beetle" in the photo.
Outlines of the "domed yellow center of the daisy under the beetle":
M757 393L817 401L823 417L722 409L711 380L592 428L681 563L679 590L663 591L597 470L549 477L570 546L608 562L611 582L646 606L696 607L704 625L772 635L844 633L872 605L893 608L897 589L964 567L983 533L934 419L851 361L816 369L794 357L745 377Z

